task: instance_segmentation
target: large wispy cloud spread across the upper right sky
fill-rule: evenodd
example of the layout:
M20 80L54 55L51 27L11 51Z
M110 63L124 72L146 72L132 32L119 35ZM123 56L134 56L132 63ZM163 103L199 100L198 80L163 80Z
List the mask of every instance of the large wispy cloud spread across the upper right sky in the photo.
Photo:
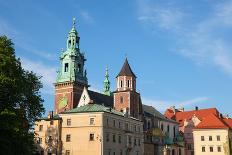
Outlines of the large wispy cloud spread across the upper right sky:
M194 15L174 4L166 7L151 1L142 3L138 6L138 20L152 25L152 31L163 29L174 35L179 46L177 53L232 76L232 45L227 36L232 33L232 1L215 4L212 12L197 22L191 21Z

